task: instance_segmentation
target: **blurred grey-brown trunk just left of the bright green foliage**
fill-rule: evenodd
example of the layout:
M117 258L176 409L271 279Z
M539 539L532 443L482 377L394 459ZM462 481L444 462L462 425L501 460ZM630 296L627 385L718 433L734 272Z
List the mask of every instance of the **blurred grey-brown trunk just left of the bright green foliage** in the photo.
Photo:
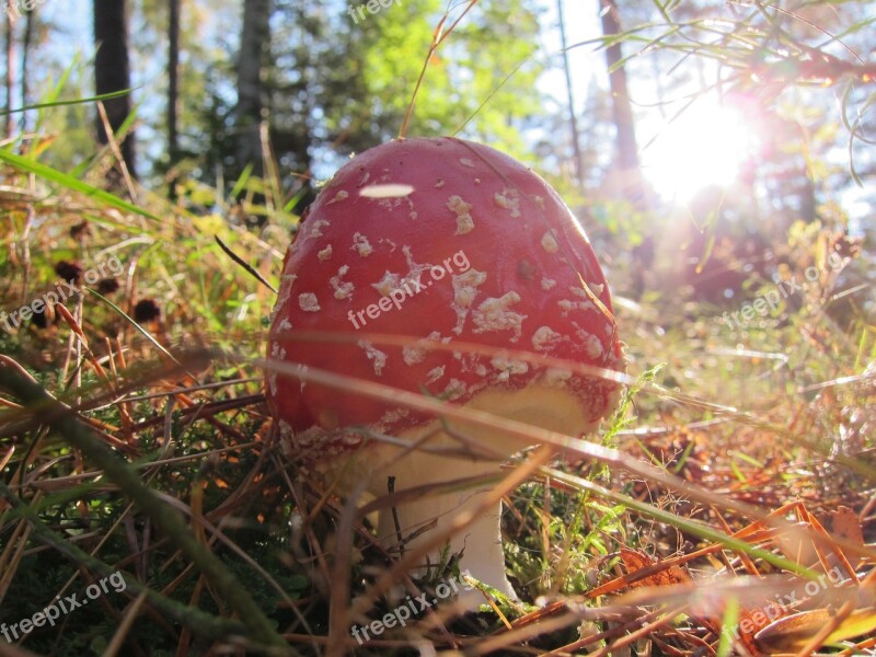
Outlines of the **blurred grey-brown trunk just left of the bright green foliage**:
M237 163L241 169L252 163L254 173L263 173L262 122L264 55L270 39L270 0L244 0L243 28L238 56Z

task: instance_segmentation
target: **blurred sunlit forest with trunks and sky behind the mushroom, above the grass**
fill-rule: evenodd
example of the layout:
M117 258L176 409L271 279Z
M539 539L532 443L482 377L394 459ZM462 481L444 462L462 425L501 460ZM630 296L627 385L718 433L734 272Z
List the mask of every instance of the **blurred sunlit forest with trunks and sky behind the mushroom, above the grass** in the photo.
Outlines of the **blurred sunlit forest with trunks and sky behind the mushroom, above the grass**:
M254 229L293 226L346 157L399 135L417 90L408 135L533 166L608 240L631 298L738 306L783 262L776 242L815 223L873 231L869 2L485 0L419 87L438 0L20 5L8 107L131 92L104 102L105 123L93 104L7 114L8 140L117 185L108 126L129 180Z

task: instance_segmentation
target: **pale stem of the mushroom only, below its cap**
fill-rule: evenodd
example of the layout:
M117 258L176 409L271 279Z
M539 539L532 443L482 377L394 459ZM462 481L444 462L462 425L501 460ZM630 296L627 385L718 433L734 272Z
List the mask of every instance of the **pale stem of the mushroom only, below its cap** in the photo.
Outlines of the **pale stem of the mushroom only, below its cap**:
M372 477L372 493L387 491L387 476L395 477L395 491L452 483L466 477L497 474L499 464L492 461L474 461L459 458L438 457L426 451L414 450L407 453L397 468L389 465ZM508 578L505 575L505 554L502 550L500 514L502 503L492 510L484 511L484 495L489 485L459 488L440 495L425 494L418 499L400 504L393 509L380 512L378 532L381 542L388 548L397 550L399 537L403 540L412 534L415 538L405 541L406 551L416 550L425 542L431 541L438 533L449 534L446 555L462 554L459 562L461 570L468 570L479 581L497 589L499 592L516 599ZM473 514L476 517L465 529L450 533L453 521L461 515ZM399 529L395 527L395 519ZM425 529L435 522L434 527ZM420 530L423 530L420 532ZM419 533L418 533L419 532ZM435 566L441 561L442 550L430 551L424 563ZM425 574L425 567L420 569ZM461 591L458 604L464 611L474 611L484 603L477 590Z

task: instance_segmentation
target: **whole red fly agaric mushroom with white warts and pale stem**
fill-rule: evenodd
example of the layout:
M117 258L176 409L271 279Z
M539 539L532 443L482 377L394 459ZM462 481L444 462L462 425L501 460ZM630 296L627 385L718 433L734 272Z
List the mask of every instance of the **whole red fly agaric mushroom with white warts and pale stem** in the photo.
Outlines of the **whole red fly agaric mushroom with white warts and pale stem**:
M354 339L290 339L298 331ZM387 346L355 339L359 332L418 339ZM492 355L453 350L454 342L484 345ZM450 347L428 348L436 344ZM286 254L269 357L576 437L616 405L615 382L534 366L502 349L624 369L606 279L560 196L516 160L461 139L397 140L350 160L321 191ZM498 472L495 460L368 439L383 434L459 449L458 431L446 430L456 425L441 418L270 371L266 388L283 442L316 470L343 470L342 491L365 481L380 496L389 476L402 492ZM462 433L505 458L529 447L468 425ZM429 522L440 530L480 499L466 489L401 504L401 531L388 509L379 537L391 546ZM499 512L476 518L449 546L462 554L461 568L515 597ZM416 535L408 549L428 535Z

